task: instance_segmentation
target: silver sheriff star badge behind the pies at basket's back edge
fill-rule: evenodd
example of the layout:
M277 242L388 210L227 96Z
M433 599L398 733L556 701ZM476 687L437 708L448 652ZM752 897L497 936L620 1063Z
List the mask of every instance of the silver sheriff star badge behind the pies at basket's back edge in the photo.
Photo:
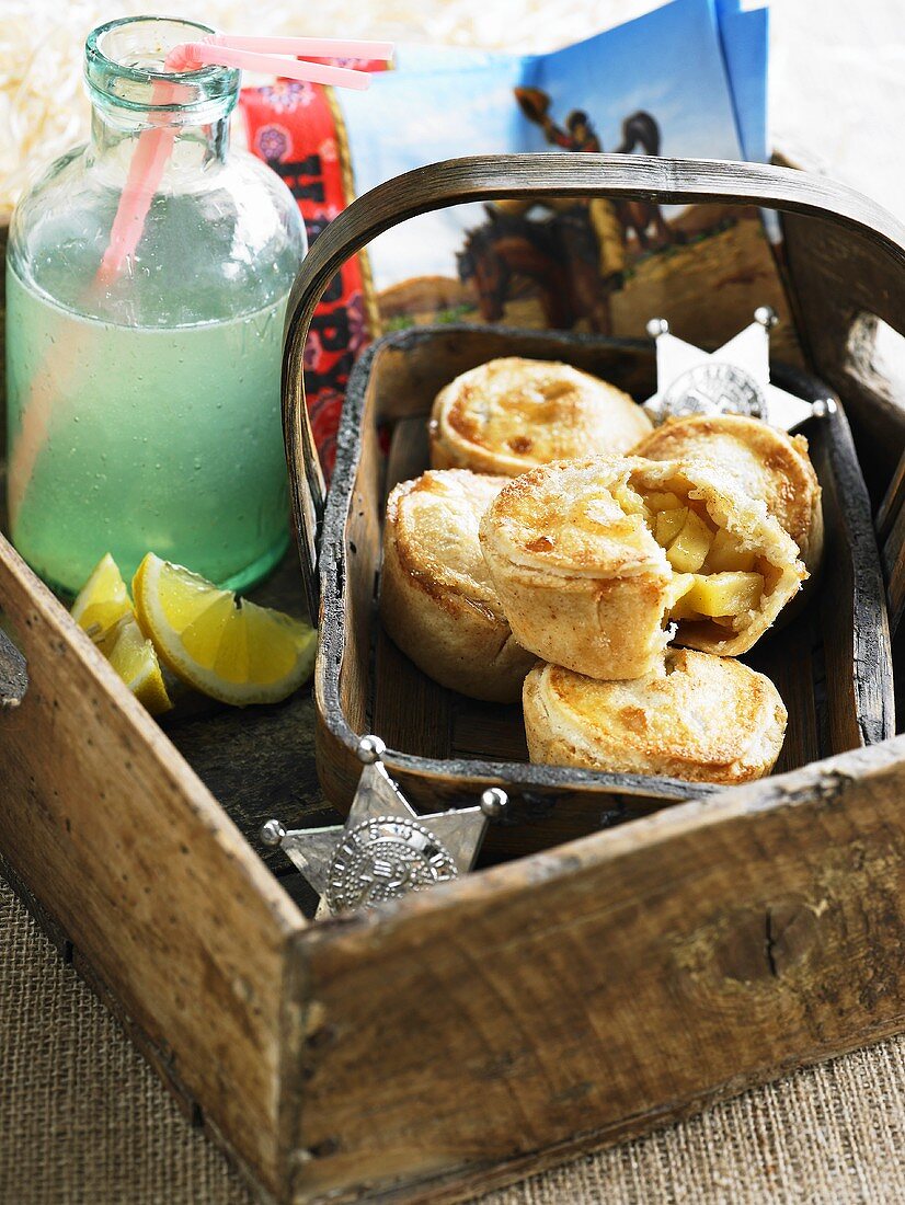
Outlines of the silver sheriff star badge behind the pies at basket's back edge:
M664 318L652 318L657 340L657 393L645 402L654 423L682 415L747 415L791 431L807 418L824 418L835 401L805 401L770 383L770 329L776 313L762 305L754 321L718 351L704 352L670 334Z

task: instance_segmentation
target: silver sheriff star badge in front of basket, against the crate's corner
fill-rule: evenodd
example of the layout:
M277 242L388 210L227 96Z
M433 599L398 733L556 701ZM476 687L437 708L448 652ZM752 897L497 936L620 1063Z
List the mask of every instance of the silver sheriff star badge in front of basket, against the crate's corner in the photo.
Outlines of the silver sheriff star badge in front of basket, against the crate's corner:
M288 831L268 821L260 837L280 846L321 895L318 916L372 907L458 878L475 864L488 821L506 806L505 790L490 787L476 807L419 816L381 760L386 746L363 736L364 762L346 823Z

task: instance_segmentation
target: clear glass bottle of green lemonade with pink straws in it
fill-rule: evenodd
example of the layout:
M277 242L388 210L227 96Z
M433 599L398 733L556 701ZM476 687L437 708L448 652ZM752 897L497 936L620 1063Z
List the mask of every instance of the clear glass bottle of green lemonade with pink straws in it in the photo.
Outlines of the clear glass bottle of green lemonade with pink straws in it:
M12 221L12 536L69 593L105 552L128 581L148 551L242 588L288 542L280 371L305 233L278 176L229 149L239 72L163 71L174 46L204 33L153 17L95 29L90 139L48 167ZM101 260L152 128L171 151L111 278Z

